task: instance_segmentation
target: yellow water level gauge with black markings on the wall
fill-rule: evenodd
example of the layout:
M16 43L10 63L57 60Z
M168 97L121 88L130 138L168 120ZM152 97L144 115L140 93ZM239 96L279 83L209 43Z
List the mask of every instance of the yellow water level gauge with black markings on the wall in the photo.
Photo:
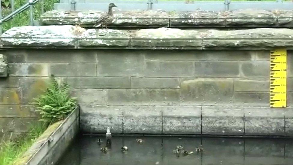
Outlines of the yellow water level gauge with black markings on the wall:
M270 107L285 108L287 91L287 51L270 52Z

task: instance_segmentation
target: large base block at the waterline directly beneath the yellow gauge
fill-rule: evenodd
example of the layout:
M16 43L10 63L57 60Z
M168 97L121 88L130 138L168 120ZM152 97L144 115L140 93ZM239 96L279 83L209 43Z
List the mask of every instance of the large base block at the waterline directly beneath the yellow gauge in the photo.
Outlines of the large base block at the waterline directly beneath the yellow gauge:
M285 135L285 113L280 108L246 107L245 135Z

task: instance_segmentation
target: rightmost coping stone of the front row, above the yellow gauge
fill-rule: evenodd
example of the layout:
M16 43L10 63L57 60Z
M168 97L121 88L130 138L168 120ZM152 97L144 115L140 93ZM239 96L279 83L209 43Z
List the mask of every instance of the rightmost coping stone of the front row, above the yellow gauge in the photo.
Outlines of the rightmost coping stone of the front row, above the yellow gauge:
M270 28L230 31L208 30L203 38L202 46L203 49L264 50L272 47L292 49L292 30Z

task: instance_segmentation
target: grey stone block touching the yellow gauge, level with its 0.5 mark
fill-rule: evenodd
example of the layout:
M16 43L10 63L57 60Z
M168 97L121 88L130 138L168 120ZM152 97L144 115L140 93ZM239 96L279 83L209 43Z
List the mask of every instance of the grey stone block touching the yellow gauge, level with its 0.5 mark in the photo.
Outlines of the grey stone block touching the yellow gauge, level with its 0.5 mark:
M241 64L241 74L242 77L269 78L270 62L243 62Z

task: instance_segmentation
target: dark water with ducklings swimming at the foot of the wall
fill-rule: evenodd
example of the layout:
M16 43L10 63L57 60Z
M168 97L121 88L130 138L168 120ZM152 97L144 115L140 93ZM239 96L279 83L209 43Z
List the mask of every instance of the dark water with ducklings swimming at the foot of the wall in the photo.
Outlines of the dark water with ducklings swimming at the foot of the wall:
M101 145L96 143L98 138L103 140ZM59 165L293 165L293 139L113 136L111 149L103 153L100 147L106 146L104 138L81 137L68 149ZM135 142L137 138L143 142ZM177 145L183 145L194 154L177 157L172 153ZM200 145L204 151L195 152ZM122 146L129 150L122 153Z

